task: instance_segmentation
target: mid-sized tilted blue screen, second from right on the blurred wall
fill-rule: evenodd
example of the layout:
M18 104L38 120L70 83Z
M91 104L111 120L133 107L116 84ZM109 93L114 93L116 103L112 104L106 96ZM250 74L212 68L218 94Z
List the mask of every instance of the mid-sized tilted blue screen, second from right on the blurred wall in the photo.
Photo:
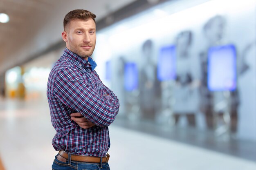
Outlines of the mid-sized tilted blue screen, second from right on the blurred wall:
M171 80L176 77L176 48L166 46L160 49L157 62L157 78L159 81Z

